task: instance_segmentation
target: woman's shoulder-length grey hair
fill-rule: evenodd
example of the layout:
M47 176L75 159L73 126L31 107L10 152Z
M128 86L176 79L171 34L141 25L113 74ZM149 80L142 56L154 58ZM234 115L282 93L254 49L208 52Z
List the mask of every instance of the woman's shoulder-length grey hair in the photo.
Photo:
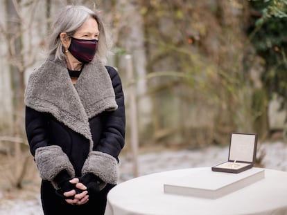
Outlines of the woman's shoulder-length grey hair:
M51 28L52 32L49 37L49 55L54 55L55 59L64 58L62 42L60 40L60 33L66 32L67 35L73 36L75 32L85 23L89 18L93 17L98 23L98 56L102 62L107 62L107 56L111 48L110 37L107 37L103 21L98 15L98 12L90 10L85 6L66 6L60 11L57 19Z

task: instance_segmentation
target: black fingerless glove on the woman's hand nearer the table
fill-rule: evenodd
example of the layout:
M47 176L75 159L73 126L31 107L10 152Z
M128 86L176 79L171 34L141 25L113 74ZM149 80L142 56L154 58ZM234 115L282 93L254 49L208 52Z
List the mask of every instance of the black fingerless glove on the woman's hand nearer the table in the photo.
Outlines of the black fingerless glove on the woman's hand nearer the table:
M89 196L94 196L100 191L100 183L103 182L98 176L88 173L79 178L80 183L87 187Z

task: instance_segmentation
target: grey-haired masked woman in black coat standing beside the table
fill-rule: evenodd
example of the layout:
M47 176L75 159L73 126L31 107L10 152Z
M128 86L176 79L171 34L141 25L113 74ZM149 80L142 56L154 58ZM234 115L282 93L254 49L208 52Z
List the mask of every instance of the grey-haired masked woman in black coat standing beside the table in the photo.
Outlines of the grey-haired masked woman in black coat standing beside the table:
M44 214L104 214L125 138L121 79L110 66L96 12L67 6L49 57L29 77L26 134L42 178Z

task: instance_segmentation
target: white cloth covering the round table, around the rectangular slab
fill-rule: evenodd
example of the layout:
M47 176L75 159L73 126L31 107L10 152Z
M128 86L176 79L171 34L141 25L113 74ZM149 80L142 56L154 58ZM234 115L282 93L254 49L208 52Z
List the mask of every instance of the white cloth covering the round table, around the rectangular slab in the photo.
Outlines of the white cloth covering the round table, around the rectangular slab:
M107 196L105 215L287 214L287 172L265 169L265 178L226 196L208 199L164 193L166 179L206 168L150 174L116 185Z

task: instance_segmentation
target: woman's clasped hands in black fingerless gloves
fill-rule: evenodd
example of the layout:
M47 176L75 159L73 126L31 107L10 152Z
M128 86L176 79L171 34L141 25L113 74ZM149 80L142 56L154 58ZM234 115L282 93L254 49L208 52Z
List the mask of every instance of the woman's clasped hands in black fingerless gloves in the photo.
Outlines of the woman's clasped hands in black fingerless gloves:
M86 174L79 178L65 178L58 183L58 196L71 205L83 205L88 202L89 196L98 194L101 179L94 174Z

